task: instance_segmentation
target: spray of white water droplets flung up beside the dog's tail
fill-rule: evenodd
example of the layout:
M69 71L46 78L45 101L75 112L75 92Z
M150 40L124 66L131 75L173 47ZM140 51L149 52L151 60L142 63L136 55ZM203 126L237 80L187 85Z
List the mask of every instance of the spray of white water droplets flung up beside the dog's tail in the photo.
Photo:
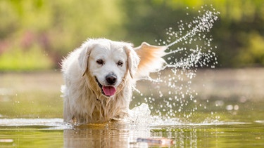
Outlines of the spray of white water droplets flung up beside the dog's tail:
M191 22L180 20L177 29L169 27L166 32L168 39L156 40L159 46L167 47L163 57L167 65L163 71L151 76L154 77L152 81L144 81L149 88L137 90L141 97L145 97L144 102L152 114L167 120L189 119L199 107L206 108L196 100L198 94L191 88L191 79L195 78L199 67L214 68L218 64L214 53L217 47L212 46L213 37L208 32L218 20L219 12L212 6L211 9L201 7L199 15ZM143 93L139 91L142 89Z

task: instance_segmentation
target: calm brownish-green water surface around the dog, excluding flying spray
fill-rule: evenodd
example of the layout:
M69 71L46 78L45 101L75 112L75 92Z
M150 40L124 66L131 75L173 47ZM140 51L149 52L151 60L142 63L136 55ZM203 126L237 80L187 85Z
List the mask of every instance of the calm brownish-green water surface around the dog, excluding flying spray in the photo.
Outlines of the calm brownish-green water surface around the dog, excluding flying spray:
M202 107L189 120L144 115L148 109L142 107L126 121L72 126L62 119L60 73L3 73L0 147L264 147L263 74L264 69L199 70L192 83ZM132 106L142 100L135 95ZM137 142L161 137L174 144Z

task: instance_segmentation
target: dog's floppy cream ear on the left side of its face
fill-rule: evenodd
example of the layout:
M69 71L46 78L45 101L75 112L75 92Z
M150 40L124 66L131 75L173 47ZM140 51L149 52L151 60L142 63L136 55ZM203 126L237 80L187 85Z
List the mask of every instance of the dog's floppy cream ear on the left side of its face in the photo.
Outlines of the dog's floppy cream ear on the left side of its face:
M91 45L91 43L89 43L89 41L87 41L83 43L80 48L81 51L78 60L79 60L82 76L84 76L84 74L87 72L88 69L88 59L93 46Z

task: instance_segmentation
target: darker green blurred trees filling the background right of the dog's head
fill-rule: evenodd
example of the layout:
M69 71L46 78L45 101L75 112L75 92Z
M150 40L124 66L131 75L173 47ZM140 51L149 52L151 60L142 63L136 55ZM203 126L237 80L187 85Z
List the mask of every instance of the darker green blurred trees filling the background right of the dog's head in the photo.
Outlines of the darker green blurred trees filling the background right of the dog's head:
M264 36L262 0L127 0L124 5L130 18L125 27L130 34L129 37L137 44L140 41L153 43L154 39L165 39L165 28L177 27L177 21L186 19L187 8L189 16L196 16L197 9L204 5L212 5L220 11L220 20L209 33L213 35L213 44L218 46L216 51L220 63L218 66L263 66L260 60L256 60L263 57L261 50L258 50L258 56L251 54L255 60L246 60L243 59L245 56L242 56L246 47L246 51L256 53L250 43L252 32L258 32L260 38ZM241 36L242 34L244 35Z

